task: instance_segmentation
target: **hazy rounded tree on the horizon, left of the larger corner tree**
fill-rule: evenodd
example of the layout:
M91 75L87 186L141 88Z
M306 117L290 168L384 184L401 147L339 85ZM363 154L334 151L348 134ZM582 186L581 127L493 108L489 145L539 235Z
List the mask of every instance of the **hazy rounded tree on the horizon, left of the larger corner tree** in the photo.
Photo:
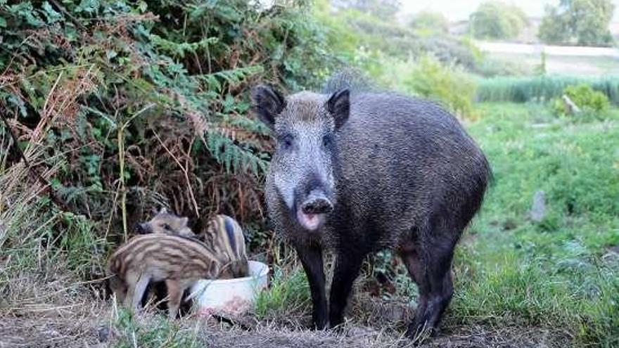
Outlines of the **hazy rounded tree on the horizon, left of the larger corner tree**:
M511 39L527 24L521 8L501 1L483 2L470 20L470 30L479 39Z

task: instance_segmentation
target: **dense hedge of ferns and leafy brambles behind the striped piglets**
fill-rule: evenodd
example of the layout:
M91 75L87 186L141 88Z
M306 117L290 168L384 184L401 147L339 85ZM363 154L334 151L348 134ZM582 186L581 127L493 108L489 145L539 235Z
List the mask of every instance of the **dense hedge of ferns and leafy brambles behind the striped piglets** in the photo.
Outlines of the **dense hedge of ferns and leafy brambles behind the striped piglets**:
M195 228L231 214L253 247L268 243L260 181L271 143L246 92L328 74L306 2L0 1L0 112L20 148L41 156L34 172L53 169L49 214L70 211L115 243L170 205ZM0 141L4 175L20 157L4 124ZM16 204L0 205L0 218ZM11 236L0 242L15 246Z

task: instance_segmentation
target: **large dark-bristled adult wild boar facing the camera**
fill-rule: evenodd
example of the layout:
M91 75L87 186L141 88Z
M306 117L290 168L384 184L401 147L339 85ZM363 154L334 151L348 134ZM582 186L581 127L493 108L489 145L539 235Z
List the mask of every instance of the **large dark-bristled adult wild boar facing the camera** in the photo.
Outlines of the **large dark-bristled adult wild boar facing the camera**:
M436 328L453 294L454 247L490 179L485 156L458 120L434 103L351 91L345 82L286 98L259 85L252 101L276 138L269 216L307 273L314 326L343 323L362 260L393 247L419 286L407 335ZM336 254L328 307L326 248Z

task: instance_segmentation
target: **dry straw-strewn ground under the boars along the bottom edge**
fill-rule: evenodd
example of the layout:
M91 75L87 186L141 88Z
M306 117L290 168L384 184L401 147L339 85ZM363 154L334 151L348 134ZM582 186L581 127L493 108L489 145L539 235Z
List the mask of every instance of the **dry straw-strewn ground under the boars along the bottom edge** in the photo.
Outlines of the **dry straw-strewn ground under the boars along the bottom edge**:
M86 297L84 297L85 299ZM405 304L400 303L401 306ZM118 314L110 302L92 300L48 311L45 316L34 311L22 316L2 316L0 347L414 347L402 330L381 328L381 317L393 314L374 312L374 325L359 323L353 314L341 332L312 331L291 321L281 325L241 318L248 326L242 330L214 319L185 318L168 324L163 315L146 313L130 324L118 324ZM247 323L250 323L249 325ZM389 325L387 323L387 325ZM182 337L182 340L181 340ZM181 341L179 341L181 340ZM178 345L182 342L186 345ZM176 344L176 345L175 345ZM418 347L565 347L568 337L544 328L494 326L458 326L445 323L441 333Z

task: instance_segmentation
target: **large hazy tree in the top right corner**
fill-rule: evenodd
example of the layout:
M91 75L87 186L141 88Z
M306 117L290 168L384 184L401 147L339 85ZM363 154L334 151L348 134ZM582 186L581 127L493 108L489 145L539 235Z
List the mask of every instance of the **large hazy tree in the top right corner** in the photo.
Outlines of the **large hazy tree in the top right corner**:
M547 6L538 36L547 44L611 46L608 24L614 11L611 0L561 0Z

